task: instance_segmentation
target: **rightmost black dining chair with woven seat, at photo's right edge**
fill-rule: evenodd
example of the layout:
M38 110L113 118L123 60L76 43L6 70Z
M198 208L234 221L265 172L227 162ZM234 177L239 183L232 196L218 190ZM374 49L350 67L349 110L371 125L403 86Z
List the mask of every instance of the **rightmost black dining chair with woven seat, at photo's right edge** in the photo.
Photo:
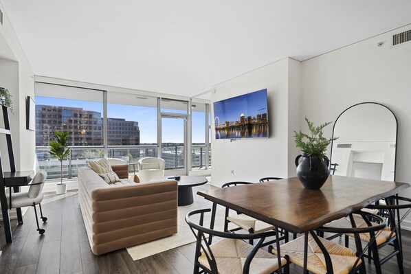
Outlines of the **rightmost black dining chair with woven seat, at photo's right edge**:
M401 201L401 205L399 202ZM370 210L375 210L380 212L380 214L387 218L388 227L384 228L383 230L378 233L375 242L371 245L371 249L369 249L368 255L365 255L370 260L374 261L375 264L375 271L377 274L381 272L381 265L385 264L393 258L394 256L397 257L397 264L399 273L404 273L403 269L403 253L402 253L402 242L401 242L401 229L400 225L401 222L411 211L411 199L401 197L401 196L391 196L385 198L385 204L377 203L376 205L368 206ZM403 214L402 218L396 218L399 216L399 209L408 209L406 214ZM364 227L366 223L364 220L357 215L354 215L355 224L357 227ZM339 220L335 220L326 224L327 227L342 227L346 225L348 220L346 218L342 218ZM374 222L373 222L374 225ZM348 237L353 237L351 233L346 233L346 247L348 247ZM360 238L364 242L370 242L371 236L369 233L361 233L359 234ZM386 255L384 258L379 258L378 250L390 245L393 248L393 251Z

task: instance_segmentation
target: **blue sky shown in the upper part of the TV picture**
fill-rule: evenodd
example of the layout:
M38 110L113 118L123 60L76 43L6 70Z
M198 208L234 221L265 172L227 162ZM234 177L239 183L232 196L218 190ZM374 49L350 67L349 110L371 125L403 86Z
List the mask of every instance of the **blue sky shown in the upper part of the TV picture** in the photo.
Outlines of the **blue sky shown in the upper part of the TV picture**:
M239 121L241 114L256 117L267 113L267 89L214 102L214 117L219 117L220 124Z

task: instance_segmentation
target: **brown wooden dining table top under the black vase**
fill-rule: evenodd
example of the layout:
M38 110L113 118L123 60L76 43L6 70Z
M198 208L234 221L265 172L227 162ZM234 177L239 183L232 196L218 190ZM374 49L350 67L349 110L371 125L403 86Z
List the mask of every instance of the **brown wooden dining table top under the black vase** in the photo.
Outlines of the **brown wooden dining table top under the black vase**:
M307 190L293 177L197 194L271 225L304 233L407 187L410 184L333 175L320 190Z

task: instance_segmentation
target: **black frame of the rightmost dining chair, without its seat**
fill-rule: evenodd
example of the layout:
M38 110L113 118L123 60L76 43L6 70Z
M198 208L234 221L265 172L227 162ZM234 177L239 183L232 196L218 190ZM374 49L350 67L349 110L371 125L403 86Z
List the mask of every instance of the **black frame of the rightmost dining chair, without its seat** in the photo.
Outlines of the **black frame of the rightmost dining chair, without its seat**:
M374 261L375 269L377 274L381 273L381 265L385 264L390 260L392 257L397 256L397 264L399 268L399 273L404 273L403 269L403 252L402 252L402 242L401 242L401 222L406 218L408 214L411 212L411 199L401 196L390 196L385 198L386 205L381 205L381 203L377 203L376 205L370 205L368 208L371 209L379 209L381 216L384 216L387 219L387 222L390 226L391 233L388 237L388 240L382 244L375 244L373 250L373 256L370 253L365 257L370 260ZM399 201L407 202L403 204L399 204ZM400 218L399 209L408 209L406 214ZM397 218L396 218L397 217ZM395 233L395 236L394 236ZM347 237L347 236L346 236ZM394 247L394 251L390 254L386 255L385 258L380 259L378 249L385 247L386 245L390 245Z

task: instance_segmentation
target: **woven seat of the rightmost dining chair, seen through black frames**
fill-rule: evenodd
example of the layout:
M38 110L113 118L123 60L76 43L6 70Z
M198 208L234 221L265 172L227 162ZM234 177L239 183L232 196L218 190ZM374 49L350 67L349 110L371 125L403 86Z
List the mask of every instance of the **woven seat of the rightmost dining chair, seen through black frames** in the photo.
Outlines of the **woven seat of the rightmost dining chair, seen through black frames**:
M355 225L357 227L368 227L366 224L366 221L359 215L353 214L354 220L355 220ZM375 222L371 222L372 225L377 225ZM344 217L340 218L338 220L333 220L332 222L327 223L324 225L324 227L348 227L351 225L350 218ZM346 236L354 237L353 234L351 233L345 233ZM381 231L378 231L375 233L375 242L377 245L383 244L384 242L387 242L390 240L390 238L393 238L395 236L395 232L391 232L390 227L386 227ZM370 233L359 233L359 238L364 241L364 242L370 242Z

